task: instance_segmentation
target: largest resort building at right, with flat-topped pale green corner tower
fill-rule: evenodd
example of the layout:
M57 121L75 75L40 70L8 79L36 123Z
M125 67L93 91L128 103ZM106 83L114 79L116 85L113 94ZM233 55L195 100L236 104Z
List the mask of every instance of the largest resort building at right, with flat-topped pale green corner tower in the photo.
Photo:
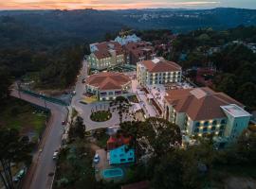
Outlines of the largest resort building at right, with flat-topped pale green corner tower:
M234 141L251 116L241 103L208 87L167 91L164 103L164 117L189 136L212 134Z

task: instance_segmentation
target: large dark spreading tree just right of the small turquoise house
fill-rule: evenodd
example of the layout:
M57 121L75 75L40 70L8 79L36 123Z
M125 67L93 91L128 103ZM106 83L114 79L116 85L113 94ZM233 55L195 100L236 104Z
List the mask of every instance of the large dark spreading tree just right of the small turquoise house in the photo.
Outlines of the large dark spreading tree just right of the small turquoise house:
M136 144L160 157L181 143L178 126L162 118L151 117L145 122L124 122L120 125L124 133L133 136Z

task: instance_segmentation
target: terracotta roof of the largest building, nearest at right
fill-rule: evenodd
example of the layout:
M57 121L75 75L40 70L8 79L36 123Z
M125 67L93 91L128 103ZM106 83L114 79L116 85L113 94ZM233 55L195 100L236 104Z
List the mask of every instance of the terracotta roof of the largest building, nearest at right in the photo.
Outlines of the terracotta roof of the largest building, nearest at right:
M220 106L236 104L243 107L227 94L216 93L208 87L177 89L167 92L165 99L176 112L186 112L192 120L208 120L226 117Z

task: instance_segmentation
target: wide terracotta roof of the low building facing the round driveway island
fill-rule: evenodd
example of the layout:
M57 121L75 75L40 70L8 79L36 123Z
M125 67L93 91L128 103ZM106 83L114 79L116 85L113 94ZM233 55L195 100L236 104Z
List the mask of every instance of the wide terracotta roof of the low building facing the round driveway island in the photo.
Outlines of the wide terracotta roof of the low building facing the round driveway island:
M101 72L86 79L86 84L98 87L100 90L121 89L122 85L128 82L131 82L130 77L116 72Z

